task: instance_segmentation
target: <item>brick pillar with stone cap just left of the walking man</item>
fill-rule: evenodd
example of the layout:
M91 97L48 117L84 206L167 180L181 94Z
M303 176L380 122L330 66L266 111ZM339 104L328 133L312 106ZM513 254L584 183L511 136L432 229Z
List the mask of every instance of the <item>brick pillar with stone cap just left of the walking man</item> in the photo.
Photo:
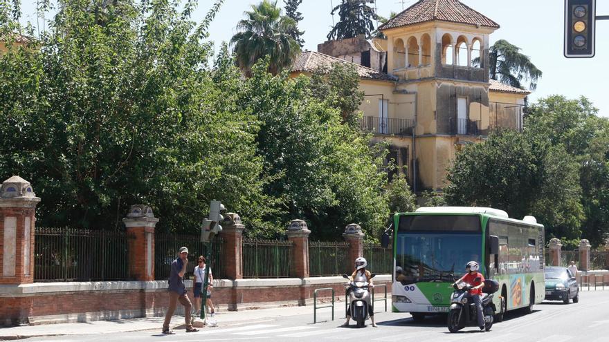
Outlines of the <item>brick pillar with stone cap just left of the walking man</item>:
M154 227L158 218L147 205L132 205L127 218L129 274L136 281L154 281Z

